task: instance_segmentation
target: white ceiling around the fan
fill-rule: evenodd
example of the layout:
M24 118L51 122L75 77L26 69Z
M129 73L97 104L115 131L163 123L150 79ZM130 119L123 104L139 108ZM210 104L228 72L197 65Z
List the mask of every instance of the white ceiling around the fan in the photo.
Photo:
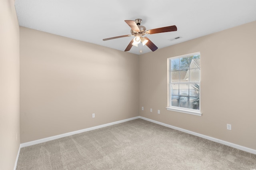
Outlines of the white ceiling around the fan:
M130 34L124 20L141 18L147 30L176 25L147 35L158 49L256 21L256 0L16 0L15 7L20 26L121 51L133 37L102 39ZM140 54L140 46L129 52Z

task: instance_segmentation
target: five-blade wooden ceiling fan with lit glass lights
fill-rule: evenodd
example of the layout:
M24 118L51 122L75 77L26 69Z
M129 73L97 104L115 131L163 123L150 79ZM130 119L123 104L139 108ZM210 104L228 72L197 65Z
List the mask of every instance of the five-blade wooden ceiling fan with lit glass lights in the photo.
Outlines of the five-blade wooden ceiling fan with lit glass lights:
M136 19L135 21L132 21L132 20L124 20L124 21L126 22L126 24L128 24L128 26L130 26L130 28L132 28L131 35L124 35L124 36L117 36L117 37L103 39L103 41L106 41L106 40L112 40L116 38L135 36L135 38L132 39L132 41L128 44L128 46L124 51L129 51L132 48L132 45L138 47L138 44L140 42L142 43L142 45L146 44L152 51L156 51L158 47L152 41L150 41L147 37L143 37L145 34L157 34L162 32L177 31L176 26L167 26L167 27L156 28L152 30L146 30L146 27L140 25L140 23L142 22L142 19Z

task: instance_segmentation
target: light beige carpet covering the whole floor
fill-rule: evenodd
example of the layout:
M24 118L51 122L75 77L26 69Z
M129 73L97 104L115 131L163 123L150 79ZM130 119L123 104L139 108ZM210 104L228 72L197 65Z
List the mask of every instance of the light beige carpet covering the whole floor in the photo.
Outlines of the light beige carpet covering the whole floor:
M250 170L256 155L136 119L21 148L17 170Z

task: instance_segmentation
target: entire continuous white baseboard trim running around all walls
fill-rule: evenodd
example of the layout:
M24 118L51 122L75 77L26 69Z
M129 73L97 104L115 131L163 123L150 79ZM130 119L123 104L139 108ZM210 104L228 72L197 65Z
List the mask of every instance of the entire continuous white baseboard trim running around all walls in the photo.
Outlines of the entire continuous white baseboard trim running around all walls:
M144 119L146 121L149 121L149 122L152 122L152 123L156 123L158 125L162 125L162 126L165 126L165 127L173 128L173 129L176 129L176 130L188 133L188 134L192 134L192 135L195 135L195 136L198 136L198 137L201 137L201 138L205 138L205 139L208 139L208 140L220 143L220 144L231 146L231 147L239 149L239 150L243 150L243 151L246 151L246 152L249 152L249 153L252 153L252 154L256 154L256 150L254 150L252 148L246 148L246 147L240 146L238 144L226 142L224 140L220 140L220 139L217 139L217 138L206 136L204 134L192 132L190 130L186 130L186 129L183 129L183 128L174 127L172 125L168 125L168 124L165 124L165 123L162 123L162 122L154 121L152 119L148 119L148 118L141 117L141 116L133 117L133 118L130 118L130 119L124 119L122 121L116 121L116 122L113 122L113 123L107 123L107 124L99 125L99 126L96 126L96 127L91 127L91 128L86 128L86 129L82 129L82 130L77 130L77 131L74 131L74 132L68 132L68 133L64 133L64 134L60 134L60 135L56 135L56 136L51 136L51 137L48 137L48 138L34 140L34 141L31 141L31 142L22 143L22 144L20 144L20 148L23 148L23 147L26 147L26 146L31 146L31 145L34 145L34 144L39 144L39 143L47 142L47 141L58 139L58 138L63 138L63 137L70 136L70 135L73 135L73 134L78 134L78 133L82 133L82 132L86 132L86 131L90 131L90 130L95 130L95 129L102 128L102 127L108 127L108 126L111 126L111 125L116 125L116 124L119 124L119 123L131 121L131 120L134 120L134 119ZM20 149L19 149L18 155L19 154L20 154ZM17 156L16 164L17 164L17 162L18 162L18 156Z

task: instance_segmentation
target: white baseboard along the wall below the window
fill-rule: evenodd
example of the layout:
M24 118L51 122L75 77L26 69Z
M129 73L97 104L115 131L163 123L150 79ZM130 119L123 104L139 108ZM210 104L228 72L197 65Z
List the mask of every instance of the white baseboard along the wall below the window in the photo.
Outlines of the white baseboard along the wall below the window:
M240 145L238 145L238 144L226 142L226 141L224 141L224 140L220 140L220 139L217 139L217 138L213 138L213 137L210 137L210 136L206 136L206 135L204 135L204 134L192 132L192 131L190 131L190 130L186 130L186 129L183 129L183 128L174 127L174 126L172 126L172 125L168 125L168 124L165 124L165 123L161 123L161 122L158 122L158 121L154 121L154 120L152 120L152 119L148 119L148 118L145 118L145 117L139 116L139 118L140 118L140 119L144 119L144 120L149 121L149 122L152 122L152 123L156 123L156 124L158 124L158 125L162 125L162 126L165 126L165 127L173 128L173 129L176 129L176 130L179 130L179 131L188 133L188 134L192 134L192 135L195 135L195 136L198 136L198 137L201 137L201 138L205 138L205 139L208 139L208 140L211 140L211 141L220 143L220 144L224 144L224 145L230 146L230 147L232 147L232 148L236 148L236 149L243 150L243 151L246 151L246 152L249 152L249 153L252 153L252 154L256 154L256 150L251 149L251 148L246 148L246 147L240 146Z

